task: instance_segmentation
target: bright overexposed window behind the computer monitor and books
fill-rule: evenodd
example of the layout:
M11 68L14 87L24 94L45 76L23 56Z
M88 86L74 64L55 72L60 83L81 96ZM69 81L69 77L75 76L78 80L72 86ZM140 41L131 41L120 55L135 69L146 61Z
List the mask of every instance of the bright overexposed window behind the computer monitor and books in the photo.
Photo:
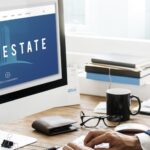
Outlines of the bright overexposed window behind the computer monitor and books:
M66 31L150 39L149 0L64 0Z

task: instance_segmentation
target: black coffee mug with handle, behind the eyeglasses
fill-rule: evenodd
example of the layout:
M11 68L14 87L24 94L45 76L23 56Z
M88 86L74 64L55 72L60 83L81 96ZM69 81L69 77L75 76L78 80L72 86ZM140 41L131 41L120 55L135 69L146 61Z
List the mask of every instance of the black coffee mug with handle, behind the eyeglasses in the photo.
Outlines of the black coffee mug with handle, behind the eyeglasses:
M140 112L141 101L137 96L131 95L131 91L122 88L108 89L106 92L107 96L107 115L114 119L114 116L118 117L119 121L127 121L130 119L130 115L136 115ZM130 110L130 104L132 98L138 102L138 110L132 112ZM112 119L112 121L114 121ZM118 121L117 120L117 121Z

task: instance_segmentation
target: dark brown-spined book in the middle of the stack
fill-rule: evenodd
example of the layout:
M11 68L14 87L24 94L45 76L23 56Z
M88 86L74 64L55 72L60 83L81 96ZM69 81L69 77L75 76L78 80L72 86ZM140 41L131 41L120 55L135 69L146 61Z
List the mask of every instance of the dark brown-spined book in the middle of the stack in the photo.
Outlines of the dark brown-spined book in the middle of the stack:
M141 78L150 74L150 67L144 69L117 67L89 63L85 65L85 71L91 73L110 74L126 77Z

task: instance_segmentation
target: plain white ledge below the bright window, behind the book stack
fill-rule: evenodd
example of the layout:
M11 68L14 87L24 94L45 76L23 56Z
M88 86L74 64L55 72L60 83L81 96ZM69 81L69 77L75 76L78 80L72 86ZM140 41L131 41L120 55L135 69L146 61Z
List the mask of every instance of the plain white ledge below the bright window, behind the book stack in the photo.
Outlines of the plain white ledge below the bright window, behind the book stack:
M67 51L79 53L122 53L150 57L150 40L67 35Z

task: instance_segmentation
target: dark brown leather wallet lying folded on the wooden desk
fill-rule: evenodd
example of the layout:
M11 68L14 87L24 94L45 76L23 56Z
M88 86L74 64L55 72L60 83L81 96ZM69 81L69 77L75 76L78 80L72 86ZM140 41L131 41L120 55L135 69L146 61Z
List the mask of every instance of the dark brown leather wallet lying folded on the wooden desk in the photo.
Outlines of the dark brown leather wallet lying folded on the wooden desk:
M62 116L47 116L35 120L32 127L47 135L56 135L65 132L75 131L78 128L73 126L75 120Z

